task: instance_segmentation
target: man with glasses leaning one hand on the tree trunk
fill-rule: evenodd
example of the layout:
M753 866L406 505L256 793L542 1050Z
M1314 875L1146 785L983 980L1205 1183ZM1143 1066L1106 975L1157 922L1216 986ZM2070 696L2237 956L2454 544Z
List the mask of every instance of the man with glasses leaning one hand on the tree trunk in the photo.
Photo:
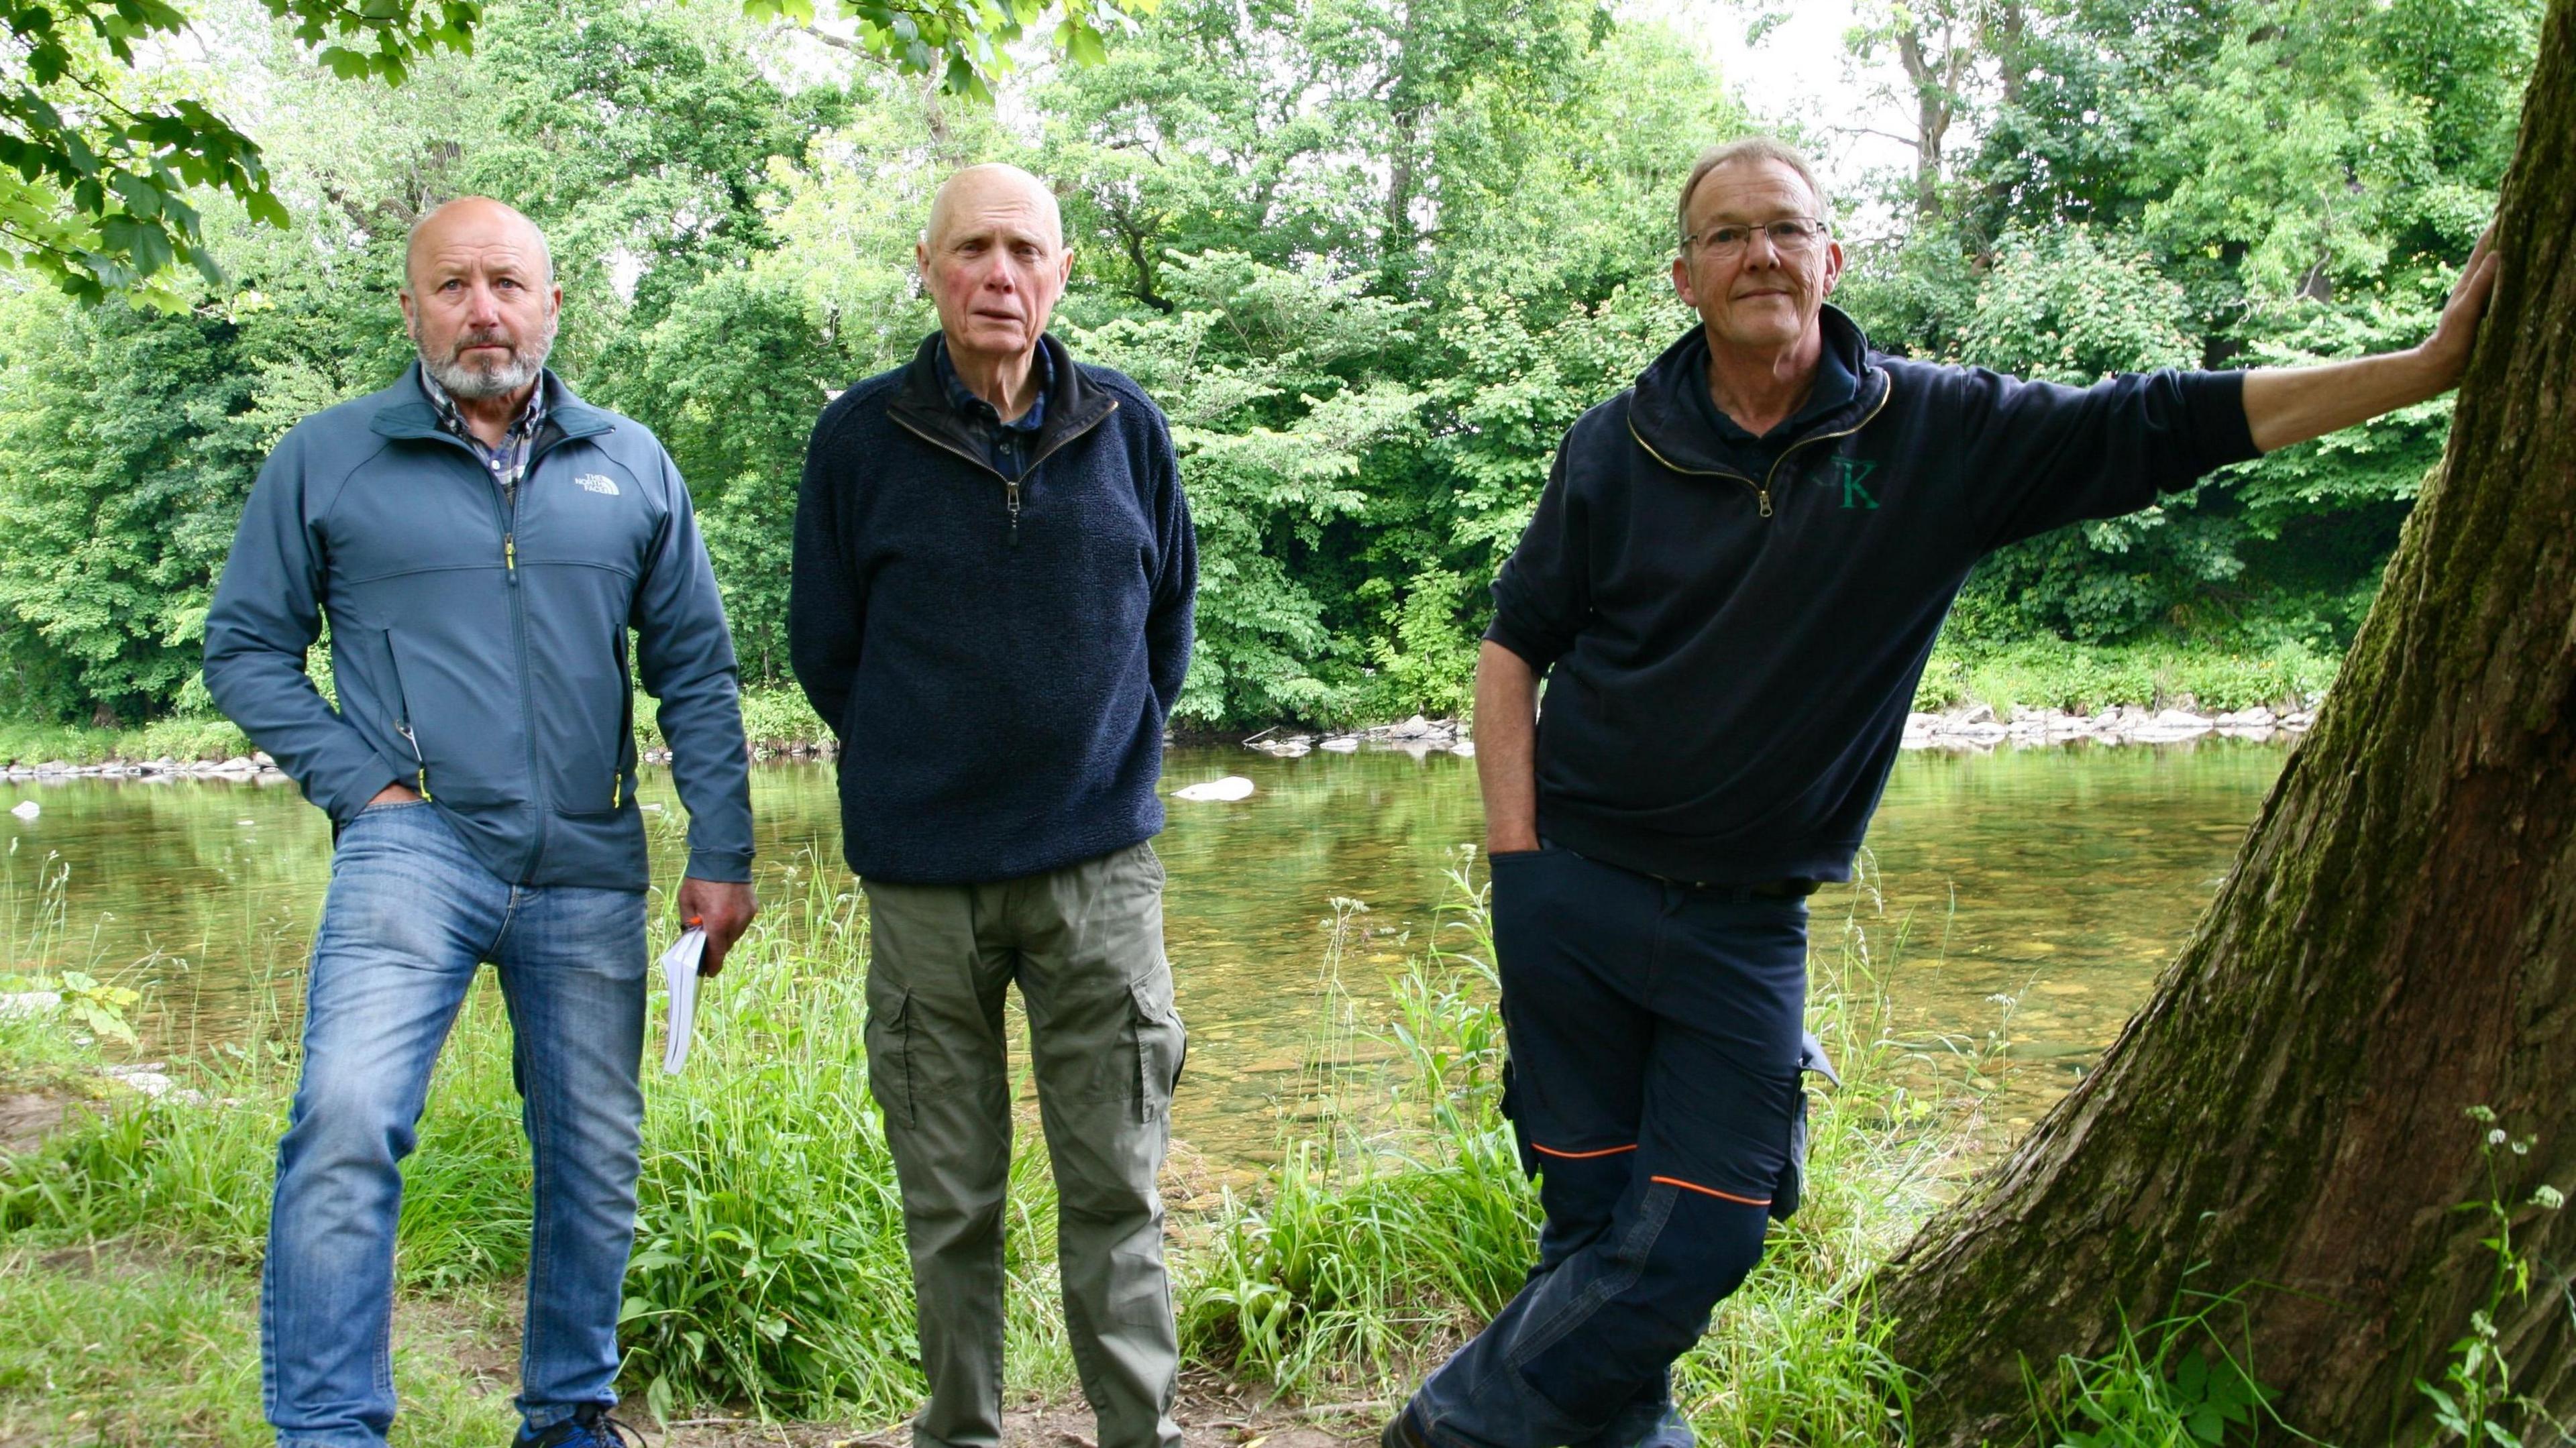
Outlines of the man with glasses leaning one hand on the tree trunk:
M2074 389L1873 353L1824 211L1777 142L1700 157L1700 325L1574 423L1494 580L1476 773L1546 1229L1386 1448L1690 1443L1667 1371L1795 1206L1806 897L1850 879L1968 569L2437 397L2494 286L2481 247L2406 353Z

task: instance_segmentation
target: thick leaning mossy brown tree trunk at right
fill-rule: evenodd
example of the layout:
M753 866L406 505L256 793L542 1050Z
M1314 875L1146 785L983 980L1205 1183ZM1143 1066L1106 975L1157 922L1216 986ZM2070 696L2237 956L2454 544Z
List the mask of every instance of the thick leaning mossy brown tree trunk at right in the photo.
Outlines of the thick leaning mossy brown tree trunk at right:
M2532 1203L2576 1196L2576 0L2496 234L2450 453L2218 902L2102 1069L1883 1281L1917 1443L2017 1443L2032 1378L2226 1291L2293 1427L2429 1440L2416 1378L2496 1268L2494 1219L2452 1208L2483 1201L2535 1262L2496 1348L2576 1420L2576 1219ZM2530 1154L2483 1149L2476 1105Z

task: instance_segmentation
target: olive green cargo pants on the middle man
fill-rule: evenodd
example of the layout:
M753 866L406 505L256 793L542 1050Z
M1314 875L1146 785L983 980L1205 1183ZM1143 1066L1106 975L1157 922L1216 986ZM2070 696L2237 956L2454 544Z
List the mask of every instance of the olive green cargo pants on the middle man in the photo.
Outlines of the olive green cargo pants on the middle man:
M904 1190L930 1404L920 1448L1002 1440L1002 1208L1018 982L1056 1167L1064 1324L1100 1448L1180 1448L1162 1172L1182 1028L1146 845L994 884L868 891L868 1082Z

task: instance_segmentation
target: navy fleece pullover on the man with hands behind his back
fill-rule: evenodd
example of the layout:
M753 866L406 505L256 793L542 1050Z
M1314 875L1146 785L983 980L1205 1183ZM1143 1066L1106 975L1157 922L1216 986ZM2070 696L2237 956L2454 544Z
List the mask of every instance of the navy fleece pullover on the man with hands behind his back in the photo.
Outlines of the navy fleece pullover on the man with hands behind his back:
M1018 482L912 363L842 392L796 500L788 652L863 879L999 881L1162 830L1198 546L1162 412L1054 338Z

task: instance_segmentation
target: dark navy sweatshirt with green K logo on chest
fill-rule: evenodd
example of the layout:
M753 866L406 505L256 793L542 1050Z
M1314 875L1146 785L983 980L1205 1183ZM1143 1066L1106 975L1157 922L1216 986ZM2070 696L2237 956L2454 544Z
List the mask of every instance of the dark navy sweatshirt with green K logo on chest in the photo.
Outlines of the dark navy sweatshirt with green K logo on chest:
M1584 412L1494 580L1546 672L1538 830L1636 871L1850 879L1932 639L1991 549L2257 456L2244 374L2094 386L1873 353L1842 407L1728 441L1692 327Z

